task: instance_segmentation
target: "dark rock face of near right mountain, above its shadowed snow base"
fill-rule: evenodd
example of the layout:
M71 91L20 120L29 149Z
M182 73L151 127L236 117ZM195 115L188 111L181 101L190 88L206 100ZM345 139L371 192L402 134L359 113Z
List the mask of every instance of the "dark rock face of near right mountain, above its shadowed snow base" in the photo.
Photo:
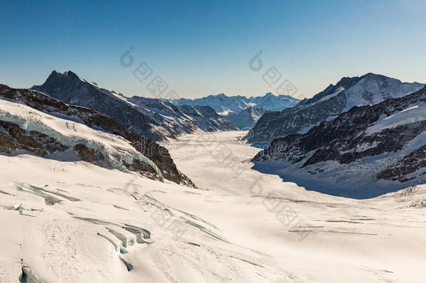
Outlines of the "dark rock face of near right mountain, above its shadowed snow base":
M425 103L426 87L374 106L354 107L307 133L274 139L253 161L282 161L298 164L300 169L315 170L315 166L320 168L325 161L337 161L342 168L351 168L355 161L365 157L380 157L381 163L380 166L377 164L377 168L383 169L376 174L377 180L412 180L416 176L409 175L426 166L426 140L422 136L426 131ZM413 112L416 109L417 112ZM374 125L390 121L392 117L395 119L392 124L383 124L372 130ZM405 156L398 153L409 149L411 152ZM374 168L372 164L369 166Z

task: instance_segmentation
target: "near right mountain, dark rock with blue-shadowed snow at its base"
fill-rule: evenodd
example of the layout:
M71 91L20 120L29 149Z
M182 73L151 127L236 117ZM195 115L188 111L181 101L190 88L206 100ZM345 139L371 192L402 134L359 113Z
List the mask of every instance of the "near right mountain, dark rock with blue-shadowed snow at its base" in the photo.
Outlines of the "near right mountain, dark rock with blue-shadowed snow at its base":
M307 133L274 139L253 161L286 180L341 196L377 196L423 184L426 87L373 106L353 107Z

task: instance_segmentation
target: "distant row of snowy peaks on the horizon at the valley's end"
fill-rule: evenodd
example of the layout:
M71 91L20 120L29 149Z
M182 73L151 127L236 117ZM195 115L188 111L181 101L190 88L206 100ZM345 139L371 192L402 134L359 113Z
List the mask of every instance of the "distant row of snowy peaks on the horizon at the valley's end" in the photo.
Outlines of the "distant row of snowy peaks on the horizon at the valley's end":
M230 113L240 113L242 110L253 108L264 108L268 111L281 111L285 108L295 106L300 102L299 99L288 95L275 96L267 93L264 96L226 96L225 94L217 94L203 97L201 99L172 99L171 103L181 106L210 106L221 115Z

